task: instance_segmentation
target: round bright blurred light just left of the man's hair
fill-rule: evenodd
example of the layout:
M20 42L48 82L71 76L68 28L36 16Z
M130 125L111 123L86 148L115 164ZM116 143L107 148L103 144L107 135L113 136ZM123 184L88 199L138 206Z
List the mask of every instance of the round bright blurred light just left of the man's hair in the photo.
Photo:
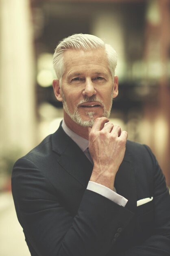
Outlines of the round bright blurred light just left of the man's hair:
M37 82L42 87L48 87L52 85L54 76L51 70L41 70L37 74Z

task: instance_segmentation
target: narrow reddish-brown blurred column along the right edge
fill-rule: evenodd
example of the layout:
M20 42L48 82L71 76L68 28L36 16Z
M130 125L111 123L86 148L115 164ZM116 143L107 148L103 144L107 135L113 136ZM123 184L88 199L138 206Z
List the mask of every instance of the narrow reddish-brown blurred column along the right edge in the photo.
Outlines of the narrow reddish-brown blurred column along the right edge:
M166 120L167 144L162 156L162 165L166 175L167 184L170 186L170 84L168 62L170 61L170 0L159 1L161 11L161 63L163 73L160 79L159 102L161 112ZM162 132L161 130L159 132Z

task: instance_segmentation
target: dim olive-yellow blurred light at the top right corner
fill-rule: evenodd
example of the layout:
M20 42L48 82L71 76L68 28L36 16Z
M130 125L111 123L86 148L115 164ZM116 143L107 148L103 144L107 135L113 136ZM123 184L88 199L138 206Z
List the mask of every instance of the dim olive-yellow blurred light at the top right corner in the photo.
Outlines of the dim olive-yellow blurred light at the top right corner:
M146 20L152 25L159 25L161 22L161 14L159 10L159 1L150 0L148 1L148 7L146 11Z

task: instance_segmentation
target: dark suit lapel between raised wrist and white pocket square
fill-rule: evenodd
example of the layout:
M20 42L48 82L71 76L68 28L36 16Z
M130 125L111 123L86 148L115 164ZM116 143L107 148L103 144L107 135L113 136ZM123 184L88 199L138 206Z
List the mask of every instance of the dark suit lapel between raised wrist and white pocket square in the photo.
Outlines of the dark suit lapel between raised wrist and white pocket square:
M126 208L135 212L137 202L135 171L127 150L116 174L115 186L117 193L128 199Z

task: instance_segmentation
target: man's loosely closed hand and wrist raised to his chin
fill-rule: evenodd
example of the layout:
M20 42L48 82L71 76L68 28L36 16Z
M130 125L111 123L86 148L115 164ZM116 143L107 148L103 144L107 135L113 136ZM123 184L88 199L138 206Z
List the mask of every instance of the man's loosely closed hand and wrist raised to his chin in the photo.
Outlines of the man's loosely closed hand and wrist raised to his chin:
M121 132L120 126L108 122L106 117L99 117L93 127L88 128L89 152L94 161L90 180L113 190L115 176L125 153L127 132Z

